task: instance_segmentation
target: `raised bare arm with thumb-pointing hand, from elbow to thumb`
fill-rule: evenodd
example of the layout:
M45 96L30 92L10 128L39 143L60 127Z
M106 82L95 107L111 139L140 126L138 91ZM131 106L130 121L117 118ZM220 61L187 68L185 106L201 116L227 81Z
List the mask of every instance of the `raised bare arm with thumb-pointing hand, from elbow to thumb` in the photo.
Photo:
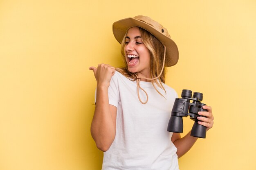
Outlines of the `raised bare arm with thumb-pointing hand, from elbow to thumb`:
M115 139L117 108L108 102L108 87L115 68L100 64L90 67L97 80L97 98L91 124L91 134L97 148L107 151Z

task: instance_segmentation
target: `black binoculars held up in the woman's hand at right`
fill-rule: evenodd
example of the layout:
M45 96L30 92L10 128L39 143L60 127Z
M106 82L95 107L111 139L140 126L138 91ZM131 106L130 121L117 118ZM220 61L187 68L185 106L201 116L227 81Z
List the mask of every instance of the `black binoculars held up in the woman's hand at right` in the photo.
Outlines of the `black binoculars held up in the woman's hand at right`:
M198 111L207 111L203 109L202 106L206 105L202 103L203 94L199 92L194 92L193 97L191 90L182 90L181 98L176 98L173 110L171 112L171 118L168 122L167 131L182 133L183 132L183 120L182 117L190 116L190 119L195 121L192 130L191 136L205 138L206 137L206 127L198 124L197 117L205 117L198 115ZM190 100L193 100L191 103Z

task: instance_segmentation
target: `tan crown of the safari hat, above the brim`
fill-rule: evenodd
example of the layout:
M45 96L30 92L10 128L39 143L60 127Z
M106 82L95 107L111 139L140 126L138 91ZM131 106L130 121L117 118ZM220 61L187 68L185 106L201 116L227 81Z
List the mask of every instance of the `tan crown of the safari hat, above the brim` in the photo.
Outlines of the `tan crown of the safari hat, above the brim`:
M155 28L159 33L162 33L163 35L170 37L168 31L164 26L156 22L155 20L152 20L150 17L143 16L143 15L138 15L134 17L136 20L140 20L142 22L145 22L146 24L150 25L151 27Z

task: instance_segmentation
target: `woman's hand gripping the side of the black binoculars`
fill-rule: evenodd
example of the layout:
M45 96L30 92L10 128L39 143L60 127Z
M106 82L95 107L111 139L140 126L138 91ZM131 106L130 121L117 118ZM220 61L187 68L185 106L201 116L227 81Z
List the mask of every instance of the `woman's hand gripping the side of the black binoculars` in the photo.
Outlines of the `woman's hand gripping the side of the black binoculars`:
M198 114L206 116L206 118L198 116L198 123L202 124L203 126L206 126L206 131L208 131L213 126L214 117L210 106L204 105L203 109L206 109L207 111L199 111Z

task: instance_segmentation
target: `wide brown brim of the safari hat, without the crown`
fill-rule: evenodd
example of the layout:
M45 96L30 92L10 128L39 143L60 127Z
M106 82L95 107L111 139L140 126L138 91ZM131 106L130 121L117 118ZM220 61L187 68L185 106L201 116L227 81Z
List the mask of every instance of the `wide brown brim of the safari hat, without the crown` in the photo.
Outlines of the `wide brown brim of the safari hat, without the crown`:
M162 42L166 46L166 66L170 67L175 65L179 60L179 51L175 42L166 35L162 34L161 32L157 31L155 28L150 26L149 24L137 20L135 18L129 17L123 20L119 20L113 23L113 34L117 41L121 44L124 35L128 31L129 28L139 26L144 28L146 31L150 32L154 35L159 41Z

